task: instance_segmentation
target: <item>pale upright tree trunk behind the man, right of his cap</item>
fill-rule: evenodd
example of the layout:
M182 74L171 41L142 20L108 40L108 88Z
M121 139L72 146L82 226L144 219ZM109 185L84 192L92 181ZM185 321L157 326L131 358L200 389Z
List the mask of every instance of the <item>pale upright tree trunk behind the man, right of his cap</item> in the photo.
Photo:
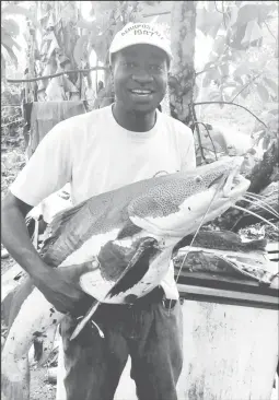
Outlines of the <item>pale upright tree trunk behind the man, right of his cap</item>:
M172 8L171 40L173 62L170 74L172 116L193 126L189 105L195 85L196 1L174 1Z

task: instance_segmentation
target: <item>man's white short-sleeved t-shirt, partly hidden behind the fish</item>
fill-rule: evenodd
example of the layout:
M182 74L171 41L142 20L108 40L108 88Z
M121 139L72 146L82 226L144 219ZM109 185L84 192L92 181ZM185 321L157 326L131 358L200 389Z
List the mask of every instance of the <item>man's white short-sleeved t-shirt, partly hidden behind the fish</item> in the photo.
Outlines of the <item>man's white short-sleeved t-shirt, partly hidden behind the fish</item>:
M11 186L11 192L37 205L67 183L78 204L92 196L196 166L191 130L156 111L148 132L120 127L112 105L57 123L42 140ZM173 263L161 283L167 298L177 298Z

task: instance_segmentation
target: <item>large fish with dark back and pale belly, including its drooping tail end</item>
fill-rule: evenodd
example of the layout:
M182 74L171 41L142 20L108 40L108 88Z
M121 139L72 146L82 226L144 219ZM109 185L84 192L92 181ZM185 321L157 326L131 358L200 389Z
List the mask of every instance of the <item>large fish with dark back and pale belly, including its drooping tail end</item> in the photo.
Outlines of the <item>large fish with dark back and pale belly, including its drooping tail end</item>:
M58 268L95 261L95 268L79 280L94 297L79 330L100 302L132 303L160 284L174 246L247 190L249 181L240 175L243 157L224 157L187 173L141 180L95 196L54 219L42 248L44 261ZM45 337L50 346L63 317L36 287L18 304L2 351L4 399L30 398L28 350L35 337ZM50 350L46 345L43 360Z

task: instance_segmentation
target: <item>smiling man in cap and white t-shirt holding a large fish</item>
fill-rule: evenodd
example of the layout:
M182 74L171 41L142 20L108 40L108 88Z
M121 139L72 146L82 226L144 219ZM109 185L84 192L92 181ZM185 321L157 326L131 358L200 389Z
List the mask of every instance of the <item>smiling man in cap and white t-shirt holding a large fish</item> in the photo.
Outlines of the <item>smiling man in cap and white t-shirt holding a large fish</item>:
M3 201L2 240L45 297L71 314L60 327L68 400L113 400L128 355L140 400L176 400L183 353L173 266L161 285L132 306L100 307L94 321L104 339L88 323L70 341L77 317L92 303L73 281L91 266L45 264L24 223L34 205L68 181L77 204L162 170L195 167L191 131L156 110L172 58L163 34L155 25L128 24L115 36L109 56L115 103L62 121L43 139Z

